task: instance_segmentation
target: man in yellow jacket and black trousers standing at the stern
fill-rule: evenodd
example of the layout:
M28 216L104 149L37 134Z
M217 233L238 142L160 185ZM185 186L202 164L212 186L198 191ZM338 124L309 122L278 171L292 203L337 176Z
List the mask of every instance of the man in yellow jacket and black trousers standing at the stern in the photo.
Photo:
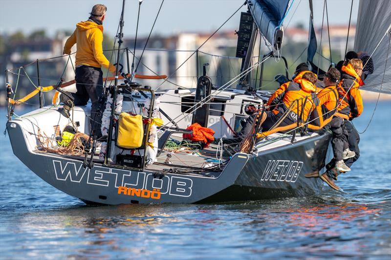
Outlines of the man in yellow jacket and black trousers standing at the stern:
M90 17L86 22L76 24L76 30L66 40L64 54L71 53L71 47L76 43L76 93L72 93L75 106L87 105L91 99L90 122L96 136L101 136L102 113L100 112L99 98L103 92L104 66L115 74L115 67L110 64L103 55L103 21L106 17L107 7L103 4L95 4L92 7ZM69 110L73 104L61 95L61 102L64 103L62 114L69 117ZM95 122L94 122L95 120Z

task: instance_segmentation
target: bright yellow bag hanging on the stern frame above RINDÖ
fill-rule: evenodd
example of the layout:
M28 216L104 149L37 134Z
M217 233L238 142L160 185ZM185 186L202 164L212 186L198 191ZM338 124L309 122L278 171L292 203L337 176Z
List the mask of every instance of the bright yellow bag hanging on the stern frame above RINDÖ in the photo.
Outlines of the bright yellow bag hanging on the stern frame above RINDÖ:
M122 112L118 119L117 146L125 149L139 148L143 143L143 136L143 117Z

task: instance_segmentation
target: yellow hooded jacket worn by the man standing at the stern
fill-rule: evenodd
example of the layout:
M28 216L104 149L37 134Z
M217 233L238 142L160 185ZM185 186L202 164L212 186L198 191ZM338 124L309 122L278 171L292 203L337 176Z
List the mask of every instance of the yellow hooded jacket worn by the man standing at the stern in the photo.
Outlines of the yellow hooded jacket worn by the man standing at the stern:
M103 26L95 22L79 22L76 30L66 40L64 53L70 54L71 47L76 43L76 66L87 65L93 67L104 66L111 72L115 67L110 65L108 59L103 55Z

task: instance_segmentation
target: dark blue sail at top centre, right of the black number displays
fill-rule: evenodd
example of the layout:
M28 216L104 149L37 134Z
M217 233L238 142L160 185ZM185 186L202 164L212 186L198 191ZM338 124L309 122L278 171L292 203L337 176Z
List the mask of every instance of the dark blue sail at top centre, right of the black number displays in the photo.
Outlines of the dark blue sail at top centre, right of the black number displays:
M288 3L289 0L248 0L255 24L274 48L281 48L283 32L280 25Z

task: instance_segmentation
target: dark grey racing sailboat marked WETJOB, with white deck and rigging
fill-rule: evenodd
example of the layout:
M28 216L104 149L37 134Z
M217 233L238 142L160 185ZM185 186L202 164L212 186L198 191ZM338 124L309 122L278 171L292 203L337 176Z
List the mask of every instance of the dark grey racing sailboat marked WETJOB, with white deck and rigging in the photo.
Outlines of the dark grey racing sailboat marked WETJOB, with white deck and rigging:
M312 8L312 1L309 2ZM220 87L213 86L207 75L208 64L203 65L195 88L161 90L142 86L137 80L157 77L163 86L170 77L137 75L130 70L129 59L125 73L123 66L117 63L116 69L122 77L116 77L114 84L105 86L102 133L106 139L98 140L90 131L90 106L74 107L67 118L59 112L61 105L43 106L41 103L41 108L15 116L15 105L25 99L12 99L13 89L8 81L11 71L6 71L7 131L14 154L44 181L86 204L217 203L320 194L323 181L304 175L325 170L326 162L332 158L330 132L310 132L303 122L286 134L248 136L245 147L238 142L240 122L254 108L262 110L271 94L252 86L250 73L263 66L267 59L281 58L283 20L292 2L248 0L246 5L247 12L241 14L238 33L237 56L242 58L241 70ZM372 24L376 26L368 23L367 12L373 8L383 13L376 17L384 18L380 22L373 18ZM373 57L377 57L379 65L375 73L382 70L383 61L389 66L386 60L390 54L385 54L385 50L386 36L390 37L391 22L387 21L387 17L391 17L390 10L388 1L360 2L356 35L359 47L356 48L376 53ZM124 11L125 0L118 50L121 50ZM370 39L360 38L368 32L372 35ZM269 43L271 52L253 63L251 57L258 34ZM382 46L376 47L379 41ZM312 10L308 42L308 63L311 63L317 48ZM119 61L120 51L117 53ZM379 91L390 92L390 73L391 69L385 69L388 79L382 82ZM237 82L237 86L232 87ZM65 94L72 84L74 82L60 81L57 86L39 87L30 96L37 93L41 96L43 90L50 89ZM378 82L367 85L378 87ZM129 115L132 122L137 119L143 125L124 134L120 121ZM214 142L209 146L189 143L186 136L194 134L194 130L188 126L194 123L213 130ZM74 128L76 134L74 142L64 148L56 137L66 126ZM255 130L260 128L259 124L255 126ZM140 135L138 139L136 135ZM124 145L134 138L139 144Z

